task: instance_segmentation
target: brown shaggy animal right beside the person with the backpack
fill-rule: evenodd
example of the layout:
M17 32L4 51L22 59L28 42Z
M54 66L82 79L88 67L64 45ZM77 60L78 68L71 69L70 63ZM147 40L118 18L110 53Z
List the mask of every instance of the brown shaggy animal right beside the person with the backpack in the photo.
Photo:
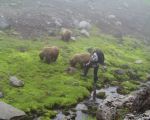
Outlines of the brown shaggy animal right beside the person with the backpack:
M76 67L77 64L80 64L82 68L86 63L89 62L89 60L90 60L89 53L75 54L70 60L70 66Z

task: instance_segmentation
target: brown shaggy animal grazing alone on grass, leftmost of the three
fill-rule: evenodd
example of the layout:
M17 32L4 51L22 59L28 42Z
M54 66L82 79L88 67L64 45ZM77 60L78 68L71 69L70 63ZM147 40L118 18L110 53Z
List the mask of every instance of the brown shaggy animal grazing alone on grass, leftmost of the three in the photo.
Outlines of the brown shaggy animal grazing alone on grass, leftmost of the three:
M40 59L50 64L51 62L55 62L59 55L59 48L56 46L52 47L44 47L43 50L40 52L39 57Z

